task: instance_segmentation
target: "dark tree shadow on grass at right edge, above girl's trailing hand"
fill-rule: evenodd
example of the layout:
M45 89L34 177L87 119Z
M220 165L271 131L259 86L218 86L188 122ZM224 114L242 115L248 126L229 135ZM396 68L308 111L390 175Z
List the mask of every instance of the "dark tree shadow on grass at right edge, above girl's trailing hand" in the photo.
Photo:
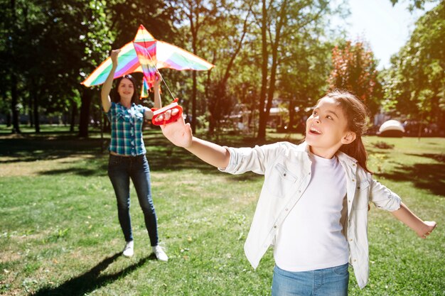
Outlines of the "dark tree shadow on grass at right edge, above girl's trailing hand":
M438 160L441 163L417 163L404 165L399 163L390 173L375 174L394 181L409 181L417 188L429 190L433 194L445 197L445 162L443 155L416 154L426 158Z

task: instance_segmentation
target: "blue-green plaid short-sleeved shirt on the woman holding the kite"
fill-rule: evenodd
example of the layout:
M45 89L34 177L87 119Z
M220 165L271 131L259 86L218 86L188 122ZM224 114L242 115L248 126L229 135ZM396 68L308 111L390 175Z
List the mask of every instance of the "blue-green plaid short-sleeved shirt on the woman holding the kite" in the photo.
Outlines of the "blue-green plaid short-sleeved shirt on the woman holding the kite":
M146 107L132 103L130 109L112 102L107 112L111 124L109 151L119 155L141 155L146 153L142 138L142 124Z

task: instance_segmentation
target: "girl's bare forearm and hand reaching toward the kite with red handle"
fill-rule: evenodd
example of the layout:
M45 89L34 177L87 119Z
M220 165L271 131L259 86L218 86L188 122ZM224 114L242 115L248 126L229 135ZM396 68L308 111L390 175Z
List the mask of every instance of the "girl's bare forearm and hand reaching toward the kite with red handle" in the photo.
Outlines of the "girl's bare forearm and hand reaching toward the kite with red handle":
M175 111L176 110L173 111L173 115L175 115ZM171 111L166 111L164 116L166 116L167 120L170 119ZM157 120L162 121L162 116L159 116ZM192 135L190 124L186 124L182 117L175 122L161 126L161 129L163 135L166 136L171 143L186 148L206 163L217 168L226 168L229 164L229 151L218 144L195 138Z

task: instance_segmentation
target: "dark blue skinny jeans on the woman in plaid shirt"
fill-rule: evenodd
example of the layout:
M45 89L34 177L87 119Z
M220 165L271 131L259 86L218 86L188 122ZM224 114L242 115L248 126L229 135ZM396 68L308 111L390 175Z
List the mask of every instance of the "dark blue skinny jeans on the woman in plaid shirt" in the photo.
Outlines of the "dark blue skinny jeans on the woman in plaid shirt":
M130 178L136 190L139 205L144 213L145 226L149 232L151 246L158 245L158 224L151 199L150 168L145 155L109 155L108 176L117 199L117 215L124 232L125 241L133 240L130 218Z

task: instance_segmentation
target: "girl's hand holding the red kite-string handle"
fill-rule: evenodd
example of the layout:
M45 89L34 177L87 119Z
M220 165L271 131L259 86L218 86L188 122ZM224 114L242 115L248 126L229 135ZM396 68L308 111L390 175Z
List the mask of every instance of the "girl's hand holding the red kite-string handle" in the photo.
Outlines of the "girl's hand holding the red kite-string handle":
M155 120L163 121L163 116L168 120L170 116L175 116L177 113L177 109L173 109L173 111L167 110L165 114L159 115ZM188 148L192 144L193 135L191 126L190 124L186 124L182 116L170 124L164 124L161 126L161 130L163 136L178 147Z

